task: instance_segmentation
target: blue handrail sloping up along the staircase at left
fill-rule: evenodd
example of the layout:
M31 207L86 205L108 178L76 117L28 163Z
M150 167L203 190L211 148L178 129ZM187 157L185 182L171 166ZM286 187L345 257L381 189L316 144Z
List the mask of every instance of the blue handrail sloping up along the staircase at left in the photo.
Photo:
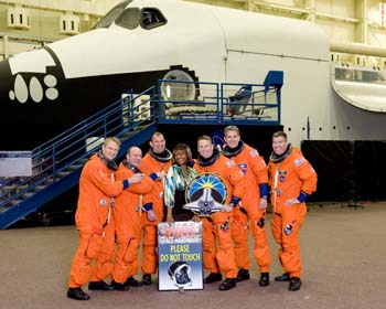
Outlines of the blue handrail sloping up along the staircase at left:
M148 96L149 99L141 100L139 105L133 106L133 103L143 96ZM154 87L138 95L129 90L125 98L34 148L32 150L33 175L11 178L3 182L0 210L39 185L55 183L61 179L62 172L81 163L83 159L95 152L99 146L98 141L100 142L104 138L112 135L121 137L125 132L137 129L144 121L154 121L154 114L151 113L150 118L138 120L142 113L148 111L142 106L149 106L148 102L153 97Z

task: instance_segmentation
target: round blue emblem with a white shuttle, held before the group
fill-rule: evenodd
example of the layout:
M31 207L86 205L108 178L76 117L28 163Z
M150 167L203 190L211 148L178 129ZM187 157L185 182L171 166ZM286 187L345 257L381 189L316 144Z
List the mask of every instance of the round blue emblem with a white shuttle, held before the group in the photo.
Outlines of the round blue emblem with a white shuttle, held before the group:
M182 207L199 216L211 216L223 209L226 198L224 180L216 173L203 173L189 184L185 193L187 203Z

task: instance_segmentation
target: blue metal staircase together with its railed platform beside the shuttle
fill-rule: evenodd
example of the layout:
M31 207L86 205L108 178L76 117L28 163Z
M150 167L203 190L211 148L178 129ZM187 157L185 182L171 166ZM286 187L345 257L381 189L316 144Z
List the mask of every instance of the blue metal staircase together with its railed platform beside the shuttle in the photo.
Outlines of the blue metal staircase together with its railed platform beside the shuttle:
M121 158L128 147L148 141L158 125L280 125L282 72L269 72L264 84L248 84L251 92L248 102L232 99L243 84L194 82L193 98L184 99L182 92L192 86L186 84L191 83L159 81L140 94L130 90L33 149L32 177L9 178L0 187L0 228L9 227L76 185L84 163L108 136L122 141L117 156ZM167 87L178 98L163 94ZM243 113L234 113L235 104L240 105L237 110ZM267 110L272 113L267 116L262 113Z

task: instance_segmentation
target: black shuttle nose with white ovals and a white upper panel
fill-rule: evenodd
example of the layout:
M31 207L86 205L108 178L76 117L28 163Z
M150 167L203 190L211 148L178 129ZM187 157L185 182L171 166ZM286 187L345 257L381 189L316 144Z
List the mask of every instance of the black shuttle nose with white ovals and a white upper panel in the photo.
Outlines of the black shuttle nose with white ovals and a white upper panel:
M2 149L19 150L20 145L23 150L31 149L63 130L64 111L57 109L62 86L62 66L49 49L0 62L0 130L7 132ZM22 142L12 131L15 128L23 131Z

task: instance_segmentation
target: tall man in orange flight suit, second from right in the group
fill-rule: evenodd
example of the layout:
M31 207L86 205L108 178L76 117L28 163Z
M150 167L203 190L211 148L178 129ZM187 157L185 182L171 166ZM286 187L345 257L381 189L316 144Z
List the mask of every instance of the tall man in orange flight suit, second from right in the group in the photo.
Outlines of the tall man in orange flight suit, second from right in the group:
M239 268L237 281L249 279L248 228L254 239L254 257L260 268L259 285L269 285L269 266L271 256L266 228L268 198L267 164L258 151L240 140L238 127L224 129L226 142L223 154L238 166L246 179L248 194L244 194L240 203L233 210L232 235L235 242L236 263Z

